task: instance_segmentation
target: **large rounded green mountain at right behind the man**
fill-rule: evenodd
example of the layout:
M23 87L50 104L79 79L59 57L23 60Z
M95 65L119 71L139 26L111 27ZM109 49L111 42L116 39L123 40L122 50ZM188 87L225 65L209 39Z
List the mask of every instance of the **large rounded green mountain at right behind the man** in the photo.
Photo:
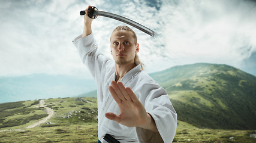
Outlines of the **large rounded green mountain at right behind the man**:
M224 64L197 63L150 74L178 119L199 128L256 129L256 77Z

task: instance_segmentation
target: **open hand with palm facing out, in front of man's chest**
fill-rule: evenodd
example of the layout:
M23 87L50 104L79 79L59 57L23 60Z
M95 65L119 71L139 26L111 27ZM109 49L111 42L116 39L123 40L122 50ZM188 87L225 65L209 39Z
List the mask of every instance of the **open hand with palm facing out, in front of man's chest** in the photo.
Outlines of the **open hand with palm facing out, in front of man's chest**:
M141 104L131 88L125 88L122 82L116 83L112 81L109 91L118 103L120 114L106 113L107 119L114 120L128 127L141 127L145 129L153 127L152 130L157 132L155 122L150 114L146 112L143 104Z

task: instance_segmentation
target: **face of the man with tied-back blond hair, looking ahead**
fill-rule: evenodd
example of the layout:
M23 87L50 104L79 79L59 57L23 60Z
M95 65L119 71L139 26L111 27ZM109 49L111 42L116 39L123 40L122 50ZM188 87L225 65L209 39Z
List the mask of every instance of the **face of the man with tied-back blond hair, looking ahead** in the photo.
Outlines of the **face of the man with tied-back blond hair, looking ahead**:
M115 30L110 37L111 54L116 64L133 64L135 54L139 51L133 33L128 30Z

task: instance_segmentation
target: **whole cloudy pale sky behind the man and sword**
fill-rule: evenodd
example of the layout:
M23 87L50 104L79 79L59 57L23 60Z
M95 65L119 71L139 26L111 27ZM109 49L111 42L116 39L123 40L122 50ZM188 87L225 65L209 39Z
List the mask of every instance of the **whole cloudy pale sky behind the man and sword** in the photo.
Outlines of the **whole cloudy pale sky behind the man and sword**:
M137 33L138 56L153 73L194 63L227 64L256 76L256 1L243 0L0 0L0 76L67 74L92 79L72 41L83 32L80 11L93 5L152 29ZM97 17L92 31L110 54L119 25Z

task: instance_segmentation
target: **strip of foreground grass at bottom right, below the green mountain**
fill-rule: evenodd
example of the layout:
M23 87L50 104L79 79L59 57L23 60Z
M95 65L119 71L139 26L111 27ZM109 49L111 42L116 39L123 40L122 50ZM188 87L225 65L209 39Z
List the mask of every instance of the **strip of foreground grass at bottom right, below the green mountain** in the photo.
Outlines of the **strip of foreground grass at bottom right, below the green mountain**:
M251 133L255 130L199 129L178 121L173 142L256 142Z

